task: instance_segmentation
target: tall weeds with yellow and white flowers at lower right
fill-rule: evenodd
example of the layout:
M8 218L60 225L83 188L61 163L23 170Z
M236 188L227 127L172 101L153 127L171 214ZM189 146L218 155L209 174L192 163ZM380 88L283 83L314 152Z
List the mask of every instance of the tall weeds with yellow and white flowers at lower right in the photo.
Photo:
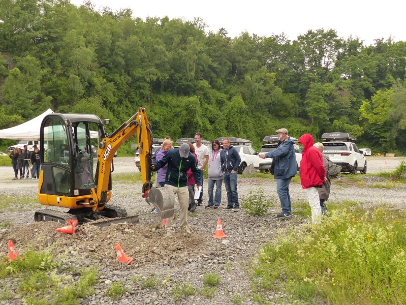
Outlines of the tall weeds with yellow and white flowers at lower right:
M306 303L401 304L406 300L406 223L400 212L329 209L321 225L279 234L260 250L259 288ZM282 237L283 236L283 237Z

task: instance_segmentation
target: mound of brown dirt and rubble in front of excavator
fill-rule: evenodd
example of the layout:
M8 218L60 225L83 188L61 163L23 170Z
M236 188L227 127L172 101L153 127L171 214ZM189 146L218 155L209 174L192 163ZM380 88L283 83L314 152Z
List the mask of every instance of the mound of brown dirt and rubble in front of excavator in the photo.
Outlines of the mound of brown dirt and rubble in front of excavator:
M134 258L130 265L134 267L160 262L178 265L205 255L226 254L221 240L213 240L207 233L195 231L186 234L178 230L171 237L166 237L164 228L158 223L154 227L124 223L104 228L85 224L78 227L73 235L55 232L55 228L61 226L56 222L40 222L4 229L0 232L2 254L7 255L9 239L13 240L19 253L24 253L26 249L48 249L55 254L65 253L70 259L77 256L82 261L109 262L113 268L114 265L121 267L112 263L117 261L116 242L128 256Z

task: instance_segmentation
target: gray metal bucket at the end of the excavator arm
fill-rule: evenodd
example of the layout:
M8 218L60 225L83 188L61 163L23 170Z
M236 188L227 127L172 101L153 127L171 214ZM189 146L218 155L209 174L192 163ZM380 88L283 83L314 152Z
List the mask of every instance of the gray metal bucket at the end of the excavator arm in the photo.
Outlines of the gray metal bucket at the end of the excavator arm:
M157 208L161 219L173 217L175 211L175 196L170 188L152 187L148 193L147 200Z

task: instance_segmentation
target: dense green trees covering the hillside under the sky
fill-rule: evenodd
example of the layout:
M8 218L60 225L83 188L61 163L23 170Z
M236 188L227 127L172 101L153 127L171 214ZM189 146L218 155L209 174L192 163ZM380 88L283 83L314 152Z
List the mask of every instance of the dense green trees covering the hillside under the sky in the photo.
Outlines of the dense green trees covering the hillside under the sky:
M230 38L201 19L142 20L69 0L0 0L0 19L0 128L51 108L109 117L112 131L142 106L157 137L199 131L258 148L286 127L406 150L405 42L365 46L334 29Z

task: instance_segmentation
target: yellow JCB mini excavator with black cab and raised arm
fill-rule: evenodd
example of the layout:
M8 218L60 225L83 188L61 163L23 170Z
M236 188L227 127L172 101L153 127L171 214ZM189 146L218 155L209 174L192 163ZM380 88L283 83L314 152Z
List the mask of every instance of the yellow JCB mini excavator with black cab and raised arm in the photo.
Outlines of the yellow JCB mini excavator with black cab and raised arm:
M144 108L123 123L111 135L93 114L51 113L41 124L38 199L41 204L68 208L69 211L44 208L35 212L35 221L65 223L76 219L80 224L101 227L111 223L137 223L126 209L109 204L113 156L131 136L138 135L142 197L152 203L162 219L173 217L174 195L167 188L152 187L152 132ZM96 147L98 149L96 150ZM95 153L96 152L96 153ZM96 164L95 164L96 163Z

